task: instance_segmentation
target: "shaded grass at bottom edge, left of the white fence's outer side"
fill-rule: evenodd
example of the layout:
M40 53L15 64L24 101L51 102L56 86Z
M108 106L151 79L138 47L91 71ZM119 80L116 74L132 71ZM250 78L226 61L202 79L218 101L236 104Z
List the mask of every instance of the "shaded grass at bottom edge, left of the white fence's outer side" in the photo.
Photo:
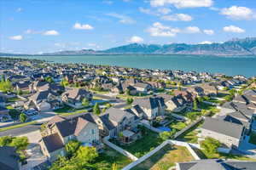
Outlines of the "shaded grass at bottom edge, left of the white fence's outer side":
M106 147L103 153L100 153L99 156L96 158L96 167L97 169L100 169L101 167L105 167L104 169L111 169L112 164L116 163L118 166L118 169L122 169L129 163L131 163L131 160L127 158L126 156L123 156L119 154L119 152Z

